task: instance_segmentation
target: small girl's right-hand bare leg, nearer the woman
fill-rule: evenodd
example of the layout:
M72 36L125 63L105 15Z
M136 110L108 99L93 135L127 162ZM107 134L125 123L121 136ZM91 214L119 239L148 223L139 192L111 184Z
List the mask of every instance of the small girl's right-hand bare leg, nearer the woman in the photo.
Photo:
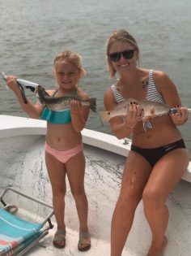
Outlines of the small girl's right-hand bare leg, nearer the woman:
M84 189L85 157L83 151L67 161L66 171L71 193L74 197L76 209L79 215L79 232L87 233L88 203ZM84 242L83 248L87 246L89 247L89 245Z

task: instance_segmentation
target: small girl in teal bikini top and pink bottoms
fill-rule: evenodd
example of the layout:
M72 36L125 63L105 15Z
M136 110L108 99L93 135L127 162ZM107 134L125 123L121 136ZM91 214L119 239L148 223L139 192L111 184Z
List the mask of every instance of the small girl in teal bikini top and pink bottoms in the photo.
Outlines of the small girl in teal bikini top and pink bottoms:
M64 95L79 95L87 99L88 96L79 89L79 79L85 75L79 54L65 51L57 54L54 59L53 73L57 80L57 90L48 90L53 97ZM65 225L65 195L66 175L70 183L79 215L79 245L80 251L91 247L91 236L87 228L87 197L84 190L85 158L81 131L89 114L88 106L81 106L78 101L70 102L70 109L66 111L49 111L46 106L36 102L25 104L15 76L8 76L6 84L14 91L23 111L32 118L47 120L45 141L45 162L49 172L49 180L53 190L53 210L57 220L57 232L53 237L53 245L64 248L66 245Z

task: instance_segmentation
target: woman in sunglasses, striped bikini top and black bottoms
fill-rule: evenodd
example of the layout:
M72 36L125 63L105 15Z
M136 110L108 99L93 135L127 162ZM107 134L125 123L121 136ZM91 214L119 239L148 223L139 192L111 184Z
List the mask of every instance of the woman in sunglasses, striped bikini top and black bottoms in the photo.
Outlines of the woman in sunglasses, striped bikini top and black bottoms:
M138 44L125 30L112 33L107 42L108 71L120 79L104 95L107 111L127 98L152 100L178 107L177 114L140 121L144 115L135 103L129 104L125 119L110 120L112 132L119 139L132 133L132 146L126 159L121 192L112 216L111 255L120 256L134 221L138 203L143 201L152 233L147 256L161 256L168 244L166 199L189 164L189 155L177 125L188 119L181 106L176 86L163 72L138 67Z

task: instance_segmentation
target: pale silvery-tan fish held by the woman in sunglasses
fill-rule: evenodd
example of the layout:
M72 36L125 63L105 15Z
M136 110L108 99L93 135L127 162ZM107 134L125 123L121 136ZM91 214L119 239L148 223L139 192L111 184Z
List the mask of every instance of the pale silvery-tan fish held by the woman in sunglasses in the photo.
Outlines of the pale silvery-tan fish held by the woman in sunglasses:
M144 117L142 121L144 122L149 117L156 117L159 115L176 114L177 108L169 108L166 104L162 102L154 102L150 100L137 101L134 98L129 98L117 104L117 106L112 111L99 111L98 115L102 123L108 122L110 119L116 116L125 116L127 114L130 102L136 102L140 108L144 111ZM189 109L189 113L191 109Z

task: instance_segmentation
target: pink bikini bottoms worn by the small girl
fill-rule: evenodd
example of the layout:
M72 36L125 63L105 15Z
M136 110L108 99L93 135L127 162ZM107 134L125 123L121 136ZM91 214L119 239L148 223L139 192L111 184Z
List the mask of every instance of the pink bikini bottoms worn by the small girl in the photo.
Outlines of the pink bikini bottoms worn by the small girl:
M83 142L79 145L76 145L71 150L54 150L49 146L47 143L45 143L45 151L51 155L53 155L54 158L57 158L58 161L61 163L66 163L70 158L74 157L74 155L79 154L79 152L83 151Z

